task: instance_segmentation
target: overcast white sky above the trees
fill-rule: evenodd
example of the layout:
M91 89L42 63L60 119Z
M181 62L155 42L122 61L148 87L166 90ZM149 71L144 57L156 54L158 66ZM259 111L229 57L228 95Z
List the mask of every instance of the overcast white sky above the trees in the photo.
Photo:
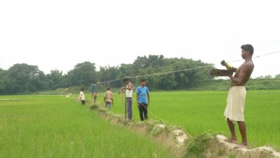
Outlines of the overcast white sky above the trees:
M218 63L241 59L246 43L255 56L280 51L280 2L260 1L1 0L0 68L67 73L84 61L114 66L148 54ZM279 59L255 59L252 76L280 74Z

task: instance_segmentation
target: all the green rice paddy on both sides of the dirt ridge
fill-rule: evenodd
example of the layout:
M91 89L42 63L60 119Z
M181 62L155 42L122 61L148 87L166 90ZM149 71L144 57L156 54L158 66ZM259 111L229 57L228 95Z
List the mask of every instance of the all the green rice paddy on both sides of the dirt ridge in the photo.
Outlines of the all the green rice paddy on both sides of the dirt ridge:
M190 135L212 130L229 136L223 117L227 92L176 91L150 95L149 110ZM77 96L0 96L0 99L20 99L0 101L0 158L173 157L170 149L150 137L111 124L95 111L88 111L90 103L81 107ZM123 114L120 96L114 94L114 98L112 112ZM87 94L86 99L90 100L91 95ZM102 100L100 93L98 102L103 103ZM135 100L133 119L140 120ZM280 150L280 90L247 91L245 122L250 147L269 145Z

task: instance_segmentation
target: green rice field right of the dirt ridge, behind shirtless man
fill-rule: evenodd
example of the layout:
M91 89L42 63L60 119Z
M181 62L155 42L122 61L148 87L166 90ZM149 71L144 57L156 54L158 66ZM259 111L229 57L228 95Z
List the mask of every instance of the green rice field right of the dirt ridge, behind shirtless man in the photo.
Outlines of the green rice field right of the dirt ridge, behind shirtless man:
M223 116L226 91L150 92L150 96L148 108L154 115L180 126L190 135L211 130L230 136ZM114 97L112 111L121 114L124 108L120 96ZM151 114L148 116L157 119ZM133 102L133 119L140 120L136 100ZM280 150L280 90L247 91L245 123L250 147L268 145ZM238 126L236 131L241 141Z

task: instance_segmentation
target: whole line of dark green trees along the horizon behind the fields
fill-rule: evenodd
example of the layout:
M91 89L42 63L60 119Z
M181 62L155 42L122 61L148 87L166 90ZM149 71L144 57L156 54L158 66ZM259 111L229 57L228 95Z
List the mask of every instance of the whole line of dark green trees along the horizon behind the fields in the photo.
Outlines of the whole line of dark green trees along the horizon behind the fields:
M8 70L0 69L0 95L54 90L72 86L89 87L95 81L108 81L207 65L210 64L200 60L149 55L138 56L132 64L100 67L99 71L97 71L95 63L87 61L76 64L66 74L63 74L59 70L52 70L49 74L44 74L37 66L14 64ZM148 80L148 86L151 90L187 89L198 86L198 84L201 84L201 81L214 79L209 75L212 68L210 66L201 69L150 76L145 79ZM271 76L262 78L271 78ZM280 75L277 75L276 78L280 78ZM140 78L131 79L136 84L138 84L139 80ZM106 82L100 86L114 88L122 85L122 80L117 80Z

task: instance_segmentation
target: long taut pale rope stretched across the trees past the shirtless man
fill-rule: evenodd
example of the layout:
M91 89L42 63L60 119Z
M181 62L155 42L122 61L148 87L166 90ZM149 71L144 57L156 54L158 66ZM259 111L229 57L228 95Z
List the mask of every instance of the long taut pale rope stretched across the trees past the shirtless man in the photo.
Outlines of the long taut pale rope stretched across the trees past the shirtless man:
M266 53L266 54L262 54L262 55L258 55L258 56L254 56L252 58L259 58L262 56L266 56L266 55L272 55L272 54L276 54L276 53L280 53L280 51L276 51L276 52L272 52L272 53ZM230 61L228 63L233 63L233 62L238 62L238 61L242 61L244 59L239 59L239 60L234 60L234 61ZM163 72L163 73L155 73L155 74L149 74L149 75L141 75L141 76L134 76L134 77L125 77L125 78L120 78L120 79L112 79L112 80L108 80L108 81L101 81L101 82L97 82L97 83L109 83L109 82L113 82L113 81L117 81L117 80L121 80L121 79L133 79L133 78L140 78L140 77L148 77L148 76L158 76L158 75L165 75L165 74L170 74L170 73L176 73L176 72L182 72L182 71L189 71L189 70L195 70L195 69L201 69L201 68L207 68L207 67L211 67L214 65L219 65L220 63L216 63L216 64L209 64L206 66L200 66L200 67L195 67L195 68L189 68L189 69L182 69L182 70L175 70L175 71L169 71L169 72Z

